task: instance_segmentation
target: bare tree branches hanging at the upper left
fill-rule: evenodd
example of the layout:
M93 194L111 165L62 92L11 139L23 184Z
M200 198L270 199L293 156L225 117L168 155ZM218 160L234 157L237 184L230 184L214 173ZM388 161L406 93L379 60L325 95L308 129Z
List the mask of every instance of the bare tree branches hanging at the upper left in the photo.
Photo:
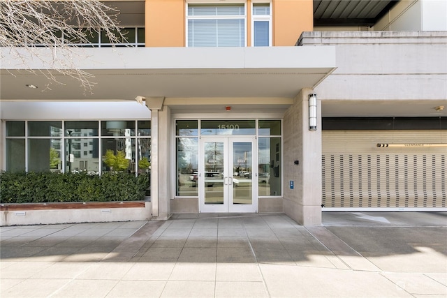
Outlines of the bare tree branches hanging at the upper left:
M59 74L75 78L85 93L92 93L94 75L75 65L87 57L74 47L91 43L98 34L105 35L112 46L126 43L118 14L116 8L98 0L0 0L0 46L10 48L24 70L45 75L47 89L51 83L62 84ZM52 49L51 57L43 57L38 47ZM43 68L33 69L27 61L40 61Z

